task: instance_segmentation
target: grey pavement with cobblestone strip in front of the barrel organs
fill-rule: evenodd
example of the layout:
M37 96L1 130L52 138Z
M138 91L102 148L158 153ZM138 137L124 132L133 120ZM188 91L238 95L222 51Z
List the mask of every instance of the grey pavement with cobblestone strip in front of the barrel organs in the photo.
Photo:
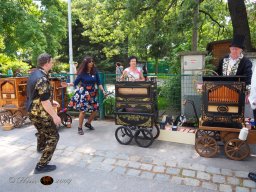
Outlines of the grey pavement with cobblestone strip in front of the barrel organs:
M220 152L215 158L200 157L193 145L156 140L149 148L134 142L120 145L113 121L94 121L94 131L77 134L60 129L60 140L51 164L57 170L34 175L40 157L36 129L32 125L0 130L0 191L256 191L247 178L256 170L255 146L244 161L229 160ZM54 179L44 186L40 179Z

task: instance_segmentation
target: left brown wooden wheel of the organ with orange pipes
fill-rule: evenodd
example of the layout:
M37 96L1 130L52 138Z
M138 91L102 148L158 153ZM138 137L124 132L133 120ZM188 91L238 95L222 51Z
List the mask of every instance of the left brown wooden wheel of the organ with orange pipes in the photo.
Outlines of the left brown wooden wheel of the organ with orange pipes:
M202 157L213 157L218 152L218 145L214 138L204 135L196 139L195 149Z

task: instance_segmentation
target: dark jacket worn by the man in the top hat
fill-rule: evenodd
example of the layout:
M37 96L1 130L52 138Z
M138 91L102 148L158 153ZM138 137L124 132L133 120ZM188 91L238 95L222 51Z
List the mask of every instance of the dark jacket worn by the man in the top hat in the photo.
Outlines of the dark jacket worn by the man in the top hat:
M226 56L224 58L228 58L228 56ZM223 59L220 60L219 66L218 66L218 69L217 69L217 73L220 76L222 76ZM246 82L245 82L246 85L250 85L251 84L251 79L252 79L252 62L248 58L243 57L241 59L239 65L238 65L238 68L237 68L236 75L237 76L246 76Z

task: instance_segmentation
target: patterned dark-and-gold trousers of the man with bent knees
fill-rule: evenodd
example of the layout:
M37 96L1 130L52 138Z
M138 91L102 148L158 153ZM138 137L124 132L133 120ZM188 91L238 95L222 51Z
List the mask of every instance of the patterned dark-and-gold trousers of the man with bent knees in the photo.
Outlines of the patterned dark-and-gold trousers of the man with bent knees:
M50 117L41 118L29 114L29 119L38 131L37 147L43 149L42 156L37 165L45 166L50 162L59 141L58 129Z

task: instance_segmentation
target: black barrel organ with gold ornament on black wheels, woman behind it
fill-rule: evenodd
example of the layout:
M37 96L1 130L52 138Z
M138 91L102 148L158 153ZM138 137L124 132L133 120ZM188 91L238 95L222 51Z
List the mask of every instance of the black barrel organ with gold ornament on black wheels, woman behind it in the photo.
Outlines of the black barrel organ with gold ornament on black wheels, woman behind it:
M154 78L116 82L115 122L122 126L116 129L115 137L120 144L127 145L134 138L139 146L149 147L159 136L156 88Z

